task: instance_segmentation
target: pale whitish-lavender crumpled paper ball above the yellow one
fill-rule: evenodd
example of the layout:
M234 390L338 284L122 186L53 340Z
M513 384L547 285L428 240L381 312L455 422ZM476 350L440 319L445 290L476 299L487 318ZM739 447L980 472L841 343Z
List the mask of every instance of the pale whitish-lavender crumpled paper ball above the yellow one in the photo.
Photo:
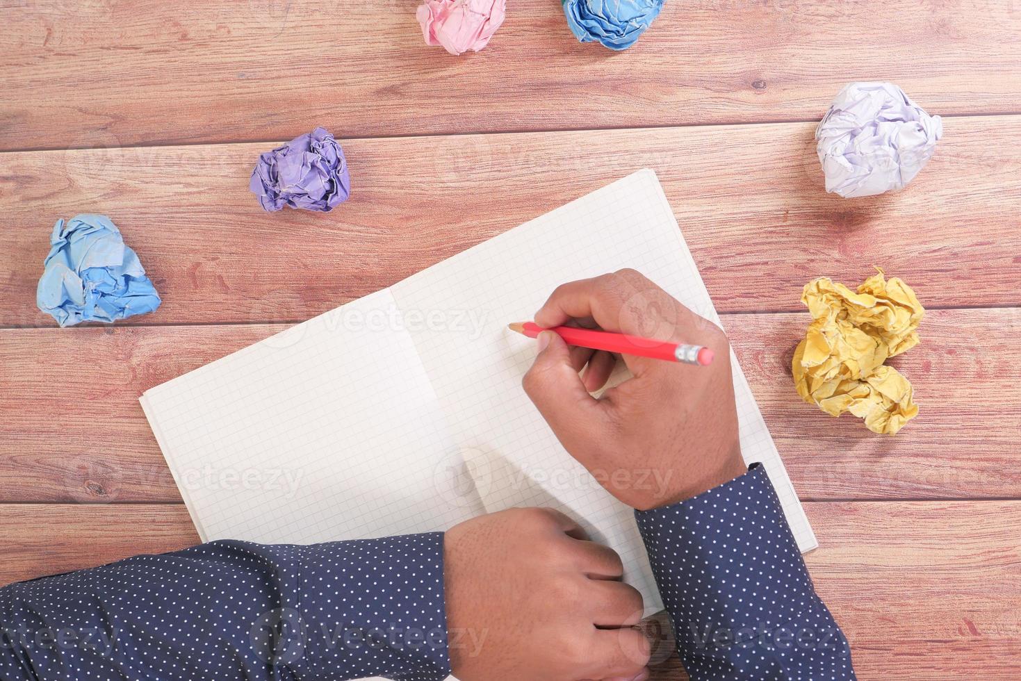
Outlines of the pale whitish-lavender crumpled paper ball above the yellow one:
M852 83L816 129L826 191L853 198L904 189L942 136L939 116L892 83Z

